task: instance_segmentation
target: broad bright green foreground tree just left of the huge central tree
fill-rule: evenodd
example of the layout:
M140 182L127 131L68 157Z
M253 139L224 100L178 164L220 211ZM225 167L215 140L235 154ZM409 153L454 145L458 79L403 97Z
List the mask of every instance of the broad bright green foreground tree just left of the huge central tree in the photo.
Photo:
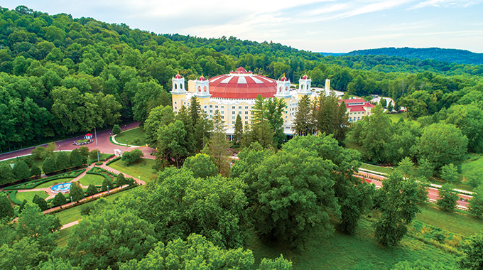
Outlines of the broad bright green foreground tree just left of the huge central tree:
M243 244L248 217L242 180L194 178L189 170L168 167L147 185L120 203L154 224L161 241L197 233L222 248Z

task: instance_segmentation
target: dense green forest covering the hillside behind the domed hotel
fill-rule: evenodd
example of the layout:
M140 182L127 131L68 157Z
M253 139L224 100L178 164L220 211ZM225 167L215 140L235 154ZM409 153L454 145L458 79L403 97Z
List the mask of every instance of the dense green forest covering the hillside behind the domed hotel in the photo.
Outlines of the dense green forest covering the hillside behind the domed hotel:
M450 107L455 95L478 87L483 74L483 65L384 55L324 57L278 43L162 35L26 6L1 8L0 149L144 121L150 109L170 104L176 72L194 79L239 66L273 78L285 73L295 83L307 72L314 86L329 78L335 90L396 102L422 90L435 109Z

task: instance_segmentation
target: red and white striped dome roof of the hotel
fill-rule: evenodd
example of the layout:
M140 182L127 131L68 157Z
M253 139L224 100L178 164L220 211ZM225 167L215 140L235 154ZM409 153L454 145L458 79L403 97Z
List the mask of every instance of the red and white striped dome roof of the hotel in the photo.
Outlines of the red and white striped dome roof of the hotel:
M225 99L254 99L258 95L273 97L277 92L275 80L238 68L229 74L210 78L212 97Z

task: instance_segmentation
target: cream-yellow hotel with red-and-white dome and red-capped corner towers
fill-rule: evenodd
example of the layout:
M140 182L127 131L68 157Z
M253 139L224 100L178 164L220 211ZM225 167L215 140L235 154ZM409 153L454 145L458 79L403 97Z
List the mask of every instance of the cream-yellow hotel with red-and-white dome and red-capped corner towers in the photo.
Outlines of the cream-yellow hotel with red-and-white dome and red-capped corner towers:
M293 135L293 120L298 107L298 100L304 95L311 99L319 95L328 95L330 91L330 80L325 80L325 88L314 91L311 87L312 80L304 75L299 80L298 89L291 88L291 82L285 76L280 80L256 75L244 68L238 68L229 74L205 78L201 76L197 80L188 81L177 74L172 79L173 90L173 111L178 114L181 107L190 106L192 96L200 102L201 109L212 119L218 110L224 119L227 134L234 134L234 125L237 115L240 115L244 124L253 124L251 121L251 110L254 109L255 99L258 95L265 98L277 97L285 100L286 109L283 112L283 127L285 134ZM188 86L188 89L186 87Z

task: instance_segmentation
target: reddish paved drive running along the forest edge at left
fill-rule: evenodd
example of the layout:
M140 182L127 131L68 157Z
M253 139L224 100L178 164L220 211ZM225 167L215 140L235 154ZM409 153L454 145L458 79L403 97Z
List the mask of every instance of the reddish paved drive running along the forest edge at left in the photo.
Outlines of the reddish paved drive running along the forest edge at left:
M138 126L139 126L139 122L135 122L135 123L131 123L131 124L126 124L126 126L123 125L123 126L121 126L121 129L124 131L126 129L134 129ZM92 134L94 134L93 131L92 131ZM122 152L132 151L132 150L135 149L135 148L131 148L131 147L118 146L116 144L112 144L111 141L109 141L110 135L111 135L111 129L106 129L106 130L97 132L97 144L99 145L99 151L101 151L101 153L114 153L114 149L119 149ZM55 142L55 145L57 146L56 150L64 151L64 150L73 150L75 148L79 148L80 146L73 146L72 141L77 141L77 140L80 140L80 139L83 139L83 138L84 138L84 136L77 136L77 137L72 137L70 139L65 139L65 140L62 140L62 141L56 141ZM42 144L42 146L47 146L47 144ZM85 146L87 146L89 148L89 150L94 150L96 148L95 138L94 138L94 142L92 144L86 144ZM8 158L15 158L16 156L28 155L28 154L32 153L32 150L34 148L35 148L35 146L31 147L31 148L25 148L25 149L22 149L22 150L9 152L9 153L2 153L2 154L0 154L0 161L2 161L4 159L8 159ZM141 151L143 151L145 158L151 158L151 159L155 158L155 156L151 155L151 153L155 151L153 148L151 148L151 147L140 147L139 149Z

